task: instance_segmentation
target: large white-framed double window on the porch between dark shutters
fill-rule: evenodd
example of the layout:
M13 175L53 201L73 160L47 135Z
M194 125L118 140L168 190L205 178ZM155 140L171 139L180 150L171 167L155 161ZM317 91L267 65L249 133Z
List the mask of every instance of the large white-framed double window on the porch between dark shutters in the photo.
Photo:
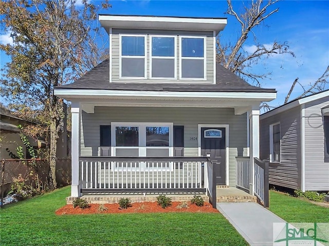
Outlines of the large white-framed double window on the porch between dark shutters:
M168 157L173 154L172 123L112 122L114 156Z

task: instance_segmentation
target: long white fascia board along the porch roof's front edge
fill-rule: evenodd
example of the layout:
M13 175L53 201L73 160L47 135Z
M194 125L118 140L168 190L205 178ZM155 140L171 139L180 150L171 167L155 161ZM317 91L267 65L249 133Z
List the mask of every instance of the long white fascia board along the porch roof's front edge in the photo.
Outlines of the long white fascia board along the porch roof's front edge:
M61 89L54 94L63 98L97 98L97 97L198 97L198 98L237 98L259 101L271 101L277 98L276 92L179 92L179 91L120 91L120 90L83 90Z

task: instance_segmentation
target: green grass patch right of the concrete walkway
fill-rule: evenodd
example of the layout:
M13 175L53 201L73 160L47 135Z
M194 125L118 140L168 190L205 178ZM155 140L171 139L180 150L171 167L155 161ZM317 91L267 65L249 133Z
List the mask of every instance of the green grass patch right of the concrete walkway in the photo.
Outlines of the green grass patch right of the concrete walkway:
M275 191L269 195L269 210L287 222L329 222L329 208Z

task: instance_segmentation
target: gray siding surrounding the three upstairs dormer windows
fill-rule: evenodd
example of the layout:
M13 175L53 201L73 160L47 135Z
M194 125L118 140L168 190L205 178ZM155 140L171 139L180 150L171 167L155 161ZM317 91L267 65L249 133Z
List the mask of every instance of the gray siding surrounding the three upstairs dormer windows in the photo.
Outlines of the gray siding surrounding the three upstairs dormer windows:
M174 31L174 30L130 30L130 29L114 29L112 34L112 81L120 81L119 79L119 34L148 34L147 35L147 80L145 79L126 79L124 81L140 81L140 82L154 82L154 83L168 83L170 82L187 82L191 83L213 83L213 33L212 32L193 32L193 31ZM150 35L149 34L163 34L163 35L177 35L177 80L161 80L149 79L150 78ZM207 64L207 80L179 80L179 35L193 35L193 36L206 36L206 64Z

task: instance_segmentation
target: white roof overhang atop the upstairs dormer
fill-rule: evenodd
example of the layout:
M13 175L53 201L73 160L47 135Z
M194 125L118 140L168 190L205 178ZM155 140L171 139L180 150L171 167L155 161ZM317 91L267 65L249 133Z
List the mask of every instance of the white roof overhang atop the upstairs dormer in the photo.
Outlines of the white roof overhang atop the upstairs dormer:
M226 18L191 18L165 16L102 15L98 19L109 33L110 28L160 29L186 31L222 31Z

